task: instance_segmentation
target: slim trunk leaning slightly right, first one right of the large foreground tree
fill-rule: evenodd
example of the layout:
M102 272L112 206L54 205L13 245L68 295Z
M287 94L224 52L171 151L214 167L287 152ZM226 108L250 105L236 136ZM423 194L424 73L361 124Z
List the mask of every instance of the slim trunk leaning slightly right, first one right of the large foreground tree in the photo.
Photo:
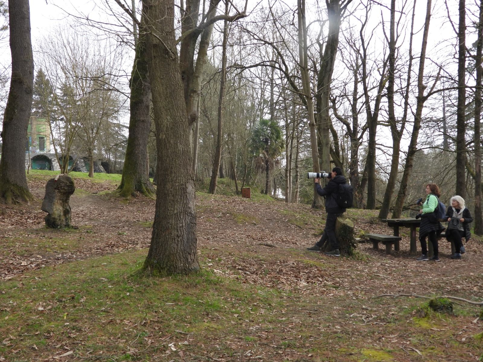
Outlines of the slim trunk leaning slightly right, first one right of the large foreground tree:
M228 2L226 2L226 13L228 12ZM228 21L225 20L223 28L223 45L221 52L221 74L220 74L220 94L218 97L218 135L216 137L216 147L214 151L213 173L208 193L216 192L216 182L218 181L218 170L221 161L221 143L223 138L223 99L225 97L225 81L227 77L227 38L228 38Z

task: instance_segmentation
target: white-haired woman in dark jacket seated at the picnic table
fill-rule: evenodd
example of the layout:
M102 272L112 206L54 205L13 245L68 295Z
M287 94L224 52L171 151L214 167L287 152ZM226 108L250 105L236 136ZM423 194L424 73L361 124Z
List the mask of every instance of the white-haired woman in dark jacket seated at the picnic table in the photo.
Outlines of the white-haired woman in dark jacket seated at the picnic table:
M469 223L473 221L463 197L456 195L451 198L451 207L446 210L446 218L446 238L455 242L455 253L451 255L451 259L461 259L461 252L464 252L461 238L465 237L469 231Z

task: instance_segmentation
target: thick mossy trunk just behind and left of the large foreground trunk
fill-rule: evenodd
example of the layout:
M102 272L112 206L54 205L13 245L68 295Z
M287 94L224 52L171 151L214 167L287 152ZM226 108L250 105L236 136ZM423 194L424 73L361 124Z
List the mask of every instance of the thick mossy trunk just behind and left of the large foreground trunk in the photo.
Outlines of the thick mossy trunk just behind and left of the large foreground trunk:
M149 115L150 84L145 38L145 32L141 31L136 43L136 54L130 79L128 146L121 184L118 187L119 193L123 197L133 196L136 191L146 196L155 194L147 171L149 168L147 154L151 119Z

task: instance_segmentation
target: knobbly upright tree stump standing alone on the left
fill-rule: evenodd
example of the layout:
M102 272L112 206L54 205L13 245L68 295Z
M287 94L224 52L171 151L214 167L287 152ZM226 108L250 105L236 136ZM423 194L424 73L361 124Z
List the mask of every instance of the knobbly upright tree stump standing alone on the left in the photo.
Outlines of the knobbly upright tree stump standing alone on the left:
M45 226L52 229L71 226L69 198L75 191L74 181L67 175L50 179L45 185L42 211L47 212Z

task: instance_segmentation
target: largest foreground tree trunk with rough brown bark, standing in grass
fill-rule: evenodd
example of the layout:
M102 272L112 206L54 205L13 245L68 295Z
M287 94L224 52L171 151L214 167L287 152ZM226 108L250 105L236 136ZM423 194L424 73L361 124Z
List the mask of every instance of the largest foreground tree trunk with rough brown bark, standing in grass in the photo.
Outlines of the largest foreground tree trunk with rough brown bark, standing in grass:
M162 274L199 270L190 132L174 38L174 2L143 0L156 119L156 213L145 267Z

